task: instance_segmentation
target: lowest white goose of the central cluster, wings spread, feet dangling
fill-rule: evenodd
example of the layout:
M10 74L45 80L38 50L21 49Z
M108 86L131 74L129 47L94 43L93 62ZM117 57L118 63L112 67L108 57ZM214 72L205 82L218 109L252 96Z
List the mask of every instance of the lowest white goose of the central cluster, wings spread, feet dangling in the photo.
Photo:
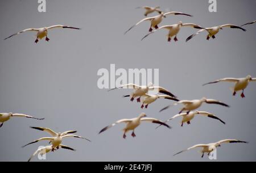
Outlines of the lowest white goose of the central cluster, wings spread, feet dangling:
M112 125L106 126L105 128L103 128L100 133L104 132L105 130L111 128L114 125L117 125L119 123L126 123L126 127L123 129L123 138L126 138L126 133L129 132L130 130L133 130L133 133L131 133L132 137L135 137L135 133L134 133L134 129L137 128L142 121L146 121L149 123L156 123L156 124L161 124L164 126L167 126L167 128L171 128L169 125L163 123L162 121L158 120L158 119L154 119L154 118L147 118L145 113L141 113L138 117L135 117L134 119L122 119L122 120L118 120L117 122L115 122ZM100 134L99 133L99 134Z

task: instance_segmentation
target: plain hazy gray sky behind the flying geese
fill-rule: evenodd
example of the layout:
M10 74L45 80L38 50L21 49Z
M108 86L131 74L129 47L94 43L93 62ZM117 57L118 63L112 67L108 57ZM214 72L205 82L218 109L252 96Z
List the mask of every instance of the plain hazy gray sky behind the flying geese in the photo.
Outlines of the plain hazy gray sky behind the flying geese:
M75 153L59 150L47 155L47 161L209 161L201 159L197 150L172 157L177 151L195 144L207 144L224 138L238 138L249 144L224 144L217 150L217 161L256 160L256 83L246 88L246 98L232 96L230 83L202 87L205 82L223 77L256 77L255 24L247 32L225 28L215 40L205 40L201 33L185 43L196 32L182 28L174 43L167 43L166 31L159 31L141 41L149 23L144 22L127 35L134 23L141 20L138 6L160 6L164 10L182 11L187 16L168 16L161 24L198 23L203 27L233 23L241 25L255 20L256 1L217 1L217 11L208 11L208 1L47 1L47 12L39 13L37 1L0 1L0 112L19 112L45 117L46 120L14 118L0 129L0 161L27 161L45 142L22 145L47 133L29 126L45 126L57 132L78 130L92 142L67 139L63 142L77 149ZM9 40L3 38L24 28L68 24L81 31L53 29L44 40L34 44L34 33L23 33ZM168 88L180 99L207 98L222 100L231 107L204 105L201 111L216 114L226 122L196 117L191 125L159 128L144 123L132 138L122 138L124 124L98 135L106 125L146 112L150 117L166 120L179 112L172 103L158 100L146 110L140 104L123 99L130 90L107 92L97 87L97 71L101 68L157 68L160 86ZM33 161L37 161L34 158Z

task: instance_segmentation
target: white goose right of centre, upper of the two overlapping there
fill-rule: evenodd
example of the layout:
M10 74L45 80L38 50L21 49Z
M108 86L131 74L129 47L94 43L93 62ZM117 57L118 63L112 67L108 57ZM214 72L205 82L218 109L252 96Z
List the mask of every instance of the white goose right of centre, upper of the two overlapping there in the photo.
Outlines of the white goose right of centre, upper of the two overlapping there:
M207 99L207 98L201 98L200 100L180 100L179 102L176 102L174 104L171 104L167 107L164 107L163 109L160 110L160 112L162 112L163 110L165 109L168 109L169 107L173 106L173 105L177 105L177 104L183 104L184 107L181 108L181 112L183 111L188 111L187 114L190 112L190 111L193 111L199 107L201 107L201 105L203 103L208 103L208 104L220 104L221 106L225 106L225 107L229 107L228 104L225 104L225 103L222 103L218 100L213 100L213 99Z

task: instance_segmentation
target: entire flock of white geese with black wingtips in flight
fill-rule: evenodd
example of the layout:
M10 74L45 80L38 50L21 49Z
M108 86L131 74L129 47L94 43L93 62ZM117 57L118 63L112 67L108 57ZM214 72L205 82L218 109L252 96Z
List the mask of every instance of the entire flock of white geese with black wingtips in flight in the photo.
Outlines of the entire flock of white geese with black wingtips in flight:
M193 35L189 36L186 41L191 40L194 36L198 35L199 33L203 32L203 31L206 31L208 33L207 40L209 40L210 37L212 37L212 39L215 39L216 34L220 31L220 29L223 29L225 27L238 28L238 29L241 29L242 31L246 31L246 29L242 28L243 26L246 26L248 24L253 24L253 23L256 22L256 20L254 20L253 22L249 22L249 23L243 24L241 26L237 26L237 25L234 25L234 24L223 24L223 25L220 25L220 26L209 27L209 28L201 27L198 24L179 22L177 24L172 24L172 25L168 25L168 26L159 27L159 24L168 15L185 15L185 16L190 16L190 17L192 17L192 15L185 14L183 12L176 12L176 11L163 12L163 11L160 10L160 7L144 6L144 7L138 7L137 9L144 9L145 10L144 16L146 16L146 18L140 20L138 23L136 23L132 27L130 27L125 32L125 34L127 32L129 32L131 29L133 29L135 26L138 26L139 24L141 24L142 22L148 21L148 22L151 23L149 33L146 36L144 36L142 38L142 40L144 38L146 38L147 36L151 35L152 33L155 33L156 31L159 31L160 29L167 29L168 30L168 35L167 35L168 36L168 41L171 41L172 37L174 37L174 41L177 41L177 34L179 33L181 27L192 27L192 28L195 28L195 29L200 29L199 31L197 31ZM153 12L158 12L159 14L155 15L155 16L152 16L152 17L147 17L147 15L152 14ZM63 26L63 25L59 25L59 24L54 25L54 26L50 26L50 27L43 27L43 28L27 28L27 29L24 29L23 31L14 33L13 35L11 35L9 37L6 37L6 39L9 39L10 37L18 35L19 33L23 33L23 32L26 32L26 31L34 31L34 32L36 32L36 36L37 36L36 40L35 40L35 43L38 43L38 41L43 39L44 37L46 37L46 41L49 41L48 30L53 29L53 28L80 29L80 28L76 28L76 27ZM236 93L238 91L242 91L241 97L244 98L245 97L245 95L244 95L245 88L247 87L247 85L249 85L249 82L255 82L255 81L256 81L256 78L252 78L250 75L248 75L245 78L223 78L223 79L218 79L216 81L206 83L206 84L204 84L204 86L212 84L212 83L218 83L218 82L234 82L235 85L232 88L233 95L236 95ZM164 107L163 109L160 110L160 112L164 111L165 109L170 108L171 106L175 106L177 104L182 104L183 107L181 108L180 112L177 115L171 117L170 119L168 119L166 121L160 121L160 120L152 118L152 117L147 117L145 113L141 113L138 117L135 117L133 119L118 120L115 123L113 123L111 125L108 125L105 128L103 128L102 130L100 130L100 133L105 132L105 130L107 130L107 129L111 128L112 126L115 126L119 123L125 123L126 126L123 129L123 138L126 138L126 133L129 132L129 131L132 131L131 136L135 137L136 135L135 135L134 130L142 122L159 124L159 126L163 125L163 126L166 126L167 128L171 128L167 124L168 121L170 121L172 119L175 119L176 117L182 117L181 126L183 126L184 123L191 124L191 120L196 115L201 115L201 116L209 117L209 118L212 118L212 119L216 119L216 120L219 120L221 123L225 124L224 121L222 121L220 118L218 118L216 115L214 115L212 113L209 113L209 112L206 112L206 111L197 111L197 109L199 109L203 103L218 104L220 106L229 107L228 104L225 104L225 103L220 102L218 100L207 99L207 98L201 98L201 99L196 99L196 100L179 100L177 98L177 96L172 94L166 88L163 88L163 87L160 87L160 86L154 86L152 83L149 83L147 86L138 86L138 85L135 85L133 83L130 83L130 84L123 85L123 86L120 86L120 87L112 88L111 90L121 89L121 88L132 88L134 91L131 92L131 94L125 95L123 97L125 97L125 98L130 97L130 100L132 102L135 98L137 98L137 102L142 103L141 108L148 108L149 104L155 102L156 100L158 100L160 98L172 100L172 101L175 102L174 104L171 104L167 107ZM109 91L111 91L111 90L109 90ZM158 93L160 93L160 94L150 95L148 93L148 92L154 91L154 90L158 91ZM141 98L143 98L143 99L141 99ZM1 123L0 127L3 126L3 123L10 120L11 117L27 117L27 118L30 118L30 119L43 120L43 119L38 119L38 118L30 116L30 115L21 114L21 113L0 113L0 123ZM43 127L31 127L31 129L36 129L36 130L41 130L41 131L47 132L49 135L51 135L51 137L42 137L42 138L39 138L38 140L32 141L32 142L27 144L27 145L31 145L31 144L35 144L39 141L48 141L49 144L50 144L48 146L45 146L45 147L42 147L42 148L39 148L38 150L36 150L35 153L32 154L32 156L30 157L30 159L28 159L28 161L31 161L32 157L34 157L36 154L43 155L43 154L46 154L50 151L55 151L59 148L75 151L75 149L72 149L72 147L65 146L65 145L62 144L64 138L68 138L68 137L81 138L81 139L84 139L84 140L87 140L87 141L90 142L90 140L88 138L75 135L74 133L77 132L76 130L68 130L66 132L56 133L52 129L43 128ZM216 149L216 147L219 147L219 146L221 146L221 144L224 144L224 143L247 143L247 142L240 141L240 140L227 139L227 140L221 140L221 141L210 143L210 144L198 144L198 145L189 147L188 149L183 150L183 151L195 149L196 147L201 147L202 148L201 153L202 153L202 157L203 157L204 153L208 153L208 155L209 155L213 150ZM25 147L27 145L24 145L23 147ZM183 151L180 151L179 153L176 153L176 154L180 154Z

